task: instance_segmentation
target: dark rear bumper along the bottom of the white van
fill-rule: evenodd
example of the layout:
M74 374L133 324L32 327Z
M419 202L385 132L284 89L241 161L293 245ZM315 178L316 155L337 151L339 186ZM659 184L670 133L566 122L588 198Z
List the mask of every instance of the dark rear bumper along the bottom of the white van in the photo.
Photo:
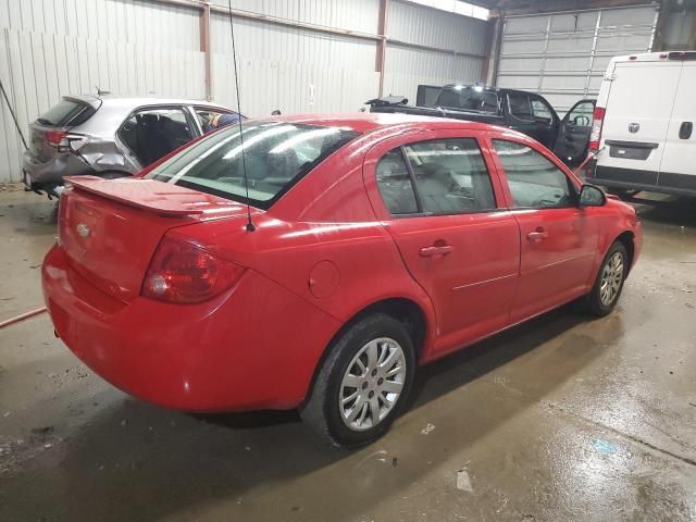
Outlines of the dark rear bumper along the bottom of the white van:
M587 182L606 187L696 197L696 170L691 175L597 165L589 174Z

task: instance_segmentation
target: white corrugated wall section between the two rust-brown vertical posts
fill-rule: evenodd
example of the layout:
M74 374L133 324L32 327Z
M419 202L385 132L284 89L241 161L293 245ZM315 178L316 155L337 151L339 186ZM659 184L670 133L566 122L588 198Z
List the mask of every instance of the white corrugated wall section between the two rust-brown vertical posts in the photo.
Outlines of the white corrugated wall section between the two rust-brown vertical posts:
M226 5L227 2L221 2ZM254 10L256 8L256 10ZM233 9L296 22L376 33L374 0L237 0ZM235 18L243 111L252 115L356 111L376 96L376 41ZM212 13L213 98L235 105L229 17Z

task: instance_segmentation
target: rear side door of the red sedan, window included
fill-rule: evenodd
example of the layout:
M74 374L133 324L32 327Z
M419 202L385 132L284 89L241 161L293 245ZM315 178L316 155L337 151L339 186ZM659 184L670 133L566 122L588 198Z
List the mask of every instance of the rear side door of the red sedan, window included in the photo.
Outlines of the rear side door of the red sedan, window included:
M471 135L439 130L385 140L364 163L375 212L433 301L436 352L509 322L519 228L485 154Z

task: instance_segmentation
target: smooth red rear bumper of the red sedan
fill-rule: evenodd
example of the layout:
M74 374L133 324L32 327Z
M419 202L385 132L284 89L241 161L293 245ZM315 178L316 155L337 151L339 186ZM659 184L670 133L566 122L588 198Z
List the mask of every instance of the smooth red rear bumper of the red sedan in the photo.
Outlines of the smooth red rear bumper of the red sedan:
M294 408L339 327L252 271L222 296L189 306L116 300L77 274L58 246L41 272L65 345L114 386L169 408Z

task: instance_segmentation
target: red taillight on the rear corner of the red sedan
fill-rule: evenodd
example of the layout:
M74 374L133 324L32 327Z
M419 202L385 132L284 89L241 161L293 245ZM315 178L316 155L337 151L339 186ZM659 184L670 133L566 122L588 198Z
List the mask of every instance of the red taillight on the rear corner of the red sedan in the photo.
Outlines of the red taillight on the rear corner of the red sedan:
M189 243L164 237L142 282L144 297L202 302L231 288L244 269Z

